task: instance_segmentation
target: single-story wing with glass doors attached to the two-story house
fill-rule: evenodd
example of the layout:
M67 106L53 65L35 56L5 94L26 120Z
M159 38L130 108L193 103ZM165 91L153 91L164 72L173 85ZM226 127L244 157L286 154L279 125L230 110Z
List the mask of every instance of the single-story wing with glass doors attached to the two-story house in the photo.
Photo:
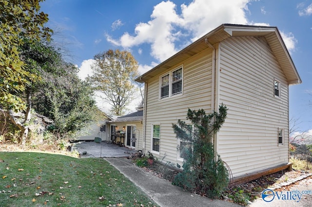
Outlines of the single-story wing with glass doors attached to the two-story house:
M110 127L109 141L119 146L142 150L143 142L143 106L137 112L118 117L108 122Z

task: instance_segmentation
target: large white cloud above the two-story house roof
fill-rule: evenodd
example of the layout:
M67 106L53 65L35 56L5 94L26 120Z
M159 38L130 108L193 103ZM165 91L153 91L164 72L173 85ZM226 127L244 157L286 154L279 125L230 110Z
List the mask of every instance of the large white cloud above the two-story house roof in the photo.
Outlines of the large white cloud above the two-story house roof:
M124 48L150 43L151 55L162 62L178 52L186 42L189 44L223 23L246 24L245 12L248 11L249 1L194 0L189 5L180 5L181 14L176 13L175 3L162 1L154 7L150 21L136 25L134 35L124 33L119 39L110 35L106 38ZM183 36L186 39L182 43L184 45L176 46L182 34L187 34Z

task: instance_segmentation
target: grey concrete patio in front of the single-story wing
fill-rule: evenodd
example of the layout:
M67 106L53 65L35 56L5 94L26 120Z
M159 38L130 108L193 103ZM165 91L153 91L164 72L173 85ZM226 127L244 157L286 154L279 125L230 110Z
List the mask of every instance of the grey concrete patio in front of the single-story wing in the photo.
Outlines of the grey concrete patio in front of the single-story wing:
M74 149L76 149L81 158L85 157L127 157L131 154L137 152L134 149L127 147L119 147L116 144L107 143L102 141L97 143L94 141L82 141L74 144ZM83 155L85 152L86 155Z

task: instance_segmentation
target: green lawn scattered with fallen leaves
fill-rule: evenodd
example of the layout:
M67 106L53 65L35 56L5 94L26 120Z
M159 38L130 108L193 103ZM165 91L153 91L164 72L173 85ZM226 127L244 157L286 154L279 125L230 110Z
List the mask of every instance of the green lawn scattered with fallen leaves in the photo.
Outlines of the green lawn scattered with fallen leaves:
M0 152L0 207L157 206L101 158Z

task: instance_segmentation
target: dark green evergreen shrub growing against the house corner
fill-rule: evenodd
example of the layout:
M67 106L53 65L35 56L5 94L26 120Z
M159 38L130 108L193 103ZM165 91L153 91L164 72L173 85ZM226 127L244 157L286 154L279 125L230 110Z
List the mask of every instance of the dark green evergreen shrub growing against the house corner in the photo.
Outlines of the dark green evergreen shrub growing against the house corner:
M192 124L181 120L173 124L176 138L192 146L180 149L186 156L183 171L176 175L173 184L209 197L219 196L227 187L228 171L220 156L215 155L212 140L224 123L227 110L223 104L219 106L219 112L208 115L203 109L189 109L186 119Z

